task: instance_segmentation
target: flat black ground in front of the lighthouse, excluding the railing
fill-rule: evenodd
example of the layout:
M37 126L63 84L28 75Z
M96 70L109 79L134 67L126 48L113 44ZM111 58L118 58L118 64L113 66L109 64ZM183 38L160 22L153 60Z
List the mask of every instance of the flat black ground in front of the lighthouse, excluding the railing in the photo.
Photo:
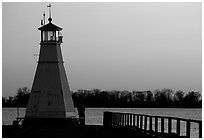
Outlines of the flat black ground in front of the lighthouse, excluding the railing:
M85 126L2 126L3 138L150 138L128 128Z

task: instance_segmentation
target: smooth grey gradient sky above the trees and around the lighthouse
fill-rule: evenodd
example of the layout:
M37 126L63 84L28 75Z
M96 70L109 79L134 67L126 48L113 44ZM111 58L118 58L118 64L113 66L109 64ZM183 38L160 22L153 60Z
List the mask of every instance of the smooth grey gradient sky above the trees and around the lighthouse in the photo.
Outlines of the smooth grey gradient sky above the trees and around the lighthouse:
M2 96L32 87L49 3L2 3ZM78 89L202 92L202 3L51 3Z

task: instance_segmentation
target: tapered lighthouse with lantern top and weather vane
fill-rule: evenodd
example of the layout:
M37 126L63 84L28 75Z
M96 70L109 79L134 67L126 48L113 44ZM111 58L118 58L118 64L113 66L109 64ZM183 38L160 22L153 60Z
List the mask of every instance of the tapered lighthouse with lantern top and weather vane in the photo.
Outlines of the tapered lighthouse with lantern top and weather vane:
M62 28L52 23L51 12L48 21L38 28L40 54L25 114L27 123L64 123L76 118L61 53Z

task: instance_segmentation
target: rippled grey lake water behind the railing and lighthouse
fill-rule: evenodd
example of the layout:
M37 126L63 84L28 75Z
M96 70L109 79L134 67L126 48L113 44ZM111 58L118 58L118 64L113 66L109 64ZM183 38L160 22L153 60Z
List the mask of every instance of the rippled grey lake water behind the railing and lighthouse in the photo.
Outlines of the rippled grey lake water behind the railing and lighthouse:
M86 124L103 124L103 112L122 112L122 113L135 113L146 115L158 116L171 116L185 119L202 120L202 109L175 109L175 108L86 108ZM25 108L20 108L20 117L24 117ZM16 119L16 108L3 108L2 109L2 124L12 124ZM77 109L76 109L77 114ZM173 129L176 128L176 123L173 122ZM154 126L153 126L154 128ZM167 131L167 130L165 130ZM191 137L198 137L198 125L191 125ZM174 131L173 131L174 132ZM185 135L185 124L181 124L181 135Z

